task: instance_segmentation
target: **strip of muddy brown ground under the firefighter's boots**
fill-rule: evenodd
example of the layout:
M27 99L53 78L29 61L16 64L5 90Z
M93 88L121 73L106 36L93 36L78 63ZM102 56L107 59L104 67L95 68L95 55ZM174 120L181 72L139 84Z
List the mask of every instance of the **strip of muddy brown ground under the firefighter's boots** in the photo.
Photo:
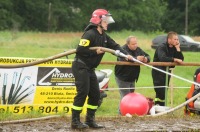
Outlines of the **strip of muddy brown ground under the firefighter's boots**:
M81 120L84 120L81 118ZM102 129L86 129L87 132L133 131L200 131L200 117L97 117ZM24 123L0 124L0 132L70 132L70 117L58 117Z

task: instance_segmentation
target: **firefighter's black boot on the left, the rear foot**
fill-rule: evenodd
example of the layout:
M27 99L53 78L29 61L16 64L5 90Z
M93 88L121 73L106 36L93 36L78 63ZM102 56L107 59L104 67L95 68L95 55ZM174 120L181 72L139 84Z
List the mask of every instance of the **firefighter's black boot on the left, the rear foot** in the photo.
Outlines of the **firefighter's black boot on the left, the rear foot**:
M80 111L72 110L72 129L86 129L88 128L87 124L84 124L80 121Z

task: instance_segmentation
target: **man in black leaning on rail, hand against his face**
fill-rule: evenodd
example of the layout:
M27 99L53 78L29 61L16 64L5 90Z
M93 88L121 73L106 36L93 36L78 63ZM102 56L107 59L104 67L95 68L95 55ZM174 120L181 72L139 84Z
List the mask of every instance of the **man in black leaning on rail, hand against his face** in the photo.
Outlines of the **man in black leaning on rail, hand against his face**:
M180 43L176 32L169 32L167 35L167 42L158 46L155 51L153 62L177 62L182 63L184 60L183 54L180 49ZM156 66L159 69L166 71L166 66ZM167 72L171 73L170 66ZM169 85L170 75L168 75ZM165 85L166 74L155 69L152 69L152 78L154 84L154 90L156 92L155 104L165 106ZM161 87L159 87L161 86Z

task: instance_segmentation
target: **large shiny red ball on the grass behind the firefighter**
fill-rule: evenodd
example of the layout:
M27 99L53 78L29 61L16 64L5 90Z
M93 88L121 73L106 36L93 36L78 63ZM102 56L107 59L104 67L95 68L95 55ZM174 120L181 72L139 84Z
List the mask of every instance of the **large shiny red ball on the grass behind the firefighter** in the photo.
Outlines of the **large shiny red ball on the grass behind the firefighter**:
M120 112L122 115L146 115L149 104L146 97L139 93L129 93L120 102Z

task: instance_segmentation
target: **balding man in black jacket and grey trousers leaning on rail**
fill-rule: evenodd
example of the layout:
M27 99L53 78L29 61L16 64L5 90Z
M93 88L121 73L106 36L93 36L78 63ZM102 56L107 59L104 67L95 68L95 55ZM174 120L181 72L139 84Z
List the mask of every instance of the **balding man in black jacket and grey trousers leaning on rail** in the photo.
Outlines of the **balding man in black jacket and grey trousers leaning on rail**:
M129 36L126 44L122 46L135 59L147 63L150 62L150 56L138 47L137 38ZM124 58L118 57L117 61L125 61ZM135 82L137 82L140 74L140 66L116 65L115 80L117 82L121 99L128 93L134 92ZM127 89L130 88L130 89ZM121 114L119 109L119 114Z

